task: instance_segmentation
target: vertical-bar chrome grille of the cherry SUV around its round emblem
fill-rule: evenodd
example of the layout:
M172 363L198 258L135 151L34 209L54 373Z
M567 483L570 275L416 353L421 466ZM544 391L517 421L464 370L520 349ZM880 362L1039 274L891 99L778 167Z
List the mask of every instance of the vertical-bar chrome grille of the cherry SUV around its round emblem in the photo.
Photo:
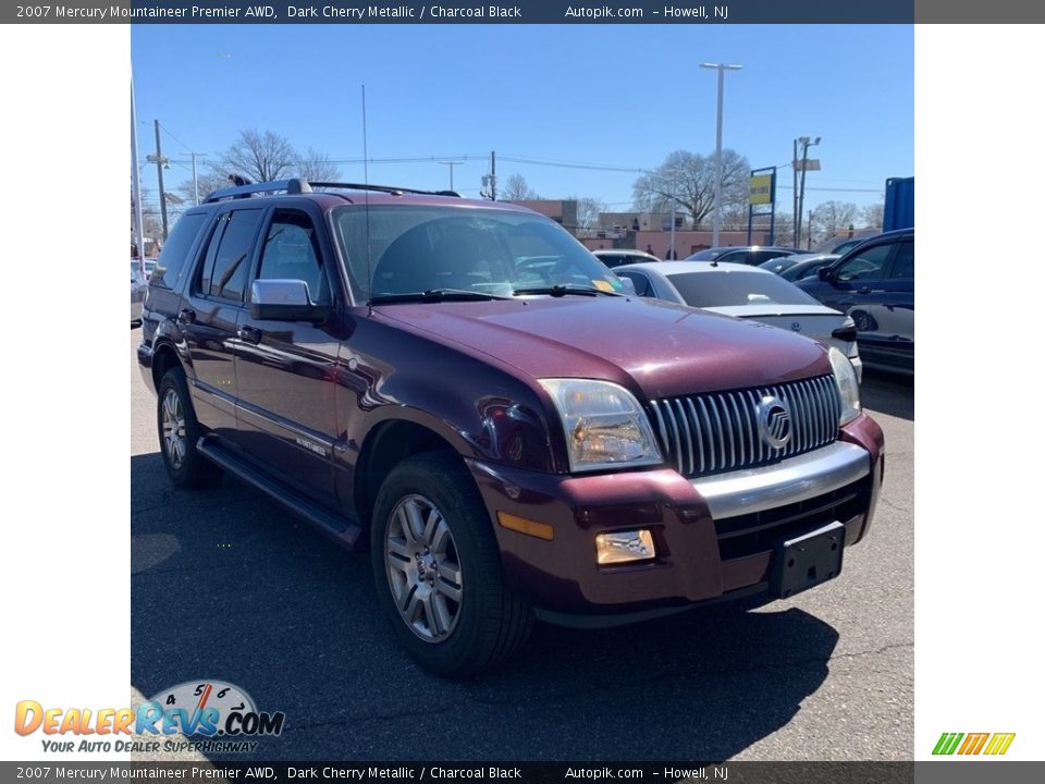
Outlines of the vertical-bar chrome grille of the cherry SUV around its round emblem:
M765 396L791 412L790 438L770 446L759 432L758 406ZM650 401L662 454L686 477L706 476L774 463L832 443L841 402L831 376Z

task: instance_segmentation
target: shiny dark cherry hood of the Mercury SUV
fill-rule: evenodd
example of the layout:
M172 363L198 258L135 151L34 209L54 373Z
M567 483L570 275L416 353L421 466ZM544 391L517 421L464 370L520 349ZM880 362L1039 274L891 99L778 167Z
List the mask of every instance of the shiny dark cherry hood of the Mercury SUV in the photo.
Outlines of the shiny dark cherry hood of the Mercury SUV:
M377 318L531 378L603 379L647 399L831 372L822 346L755 321L635 297L380 305Z

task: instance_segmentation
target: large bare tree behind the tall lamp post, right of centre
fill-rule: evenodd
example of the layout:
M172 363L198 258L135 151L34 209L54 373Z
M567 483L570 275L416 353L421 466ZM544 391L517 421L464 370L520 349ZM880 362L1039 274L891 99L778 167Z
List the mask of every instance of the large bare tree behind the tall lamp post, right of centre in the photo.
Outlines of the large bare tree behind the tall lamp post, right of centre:
M723 211L742 209L748 200L748 159L735 150L722 151ZM676 150L652 172L631 186L635 209L642 212L671 212L677 208L689 215L699 229L715 207L715 157Z

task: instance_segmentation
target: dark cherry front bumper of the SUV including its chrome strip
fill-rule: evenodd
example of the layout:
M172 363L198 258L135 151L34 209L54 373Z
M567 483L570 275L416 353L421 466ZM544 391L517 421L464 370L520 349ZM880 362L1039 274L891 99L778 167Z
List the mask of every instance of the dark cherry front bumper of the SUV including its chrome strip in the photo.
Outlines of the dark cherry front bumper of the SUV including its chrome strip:
M514 589L560 615L641 614L746 595L769 579L782 536L838 519L846 544L868 531L883 437L866 416L826 448L762 468L691 480L672 469L554 476L469 462ZM497 512L554 529L544 540L497 525ZM594 539L648 528L656 558L598 566Z

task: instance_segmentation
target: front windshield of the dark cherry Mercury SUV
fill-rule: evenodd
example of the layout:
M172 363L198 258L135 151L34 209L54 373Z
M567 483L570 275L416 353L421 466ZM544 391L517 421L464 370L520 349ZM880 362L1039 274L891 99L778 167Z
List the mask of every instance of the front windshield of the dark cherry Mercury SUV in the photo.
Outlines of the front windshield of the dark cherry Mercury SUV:
M530 212L376 206L368 215L353 205L332 216L358 303L440 291L477 297L553 289L557 295L574 289L624 292L620 280L568 232Z

